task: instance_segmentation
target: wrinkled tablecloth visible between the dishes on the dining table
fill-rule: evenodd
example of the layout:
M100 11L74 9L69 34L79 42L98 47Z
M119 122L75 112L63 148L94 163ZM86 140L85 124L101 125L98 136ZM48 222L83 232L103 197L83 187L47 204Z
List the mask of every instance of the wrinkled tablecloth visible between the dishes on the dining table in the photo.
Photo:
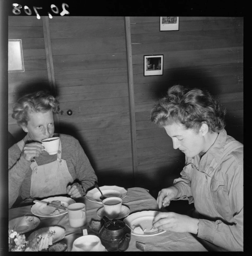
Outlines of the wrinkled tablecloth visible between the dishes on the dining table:
M83 229L87 229L88 234L94 234L92 230L88 229L88 226L91 219L99 220L97 210L102 207L101 204L91 202L86 197L77 198L75 201L86 204L87 223L85 226L81 228L70 227L68 215L65 214L58 217L39 217L41 222L37 227L37 229L55 225L64 227L66 235L60 242L67 244L68 251L72 249L73 241L82 235ZM130 208L130 214L142 210L158 210L156 199L144 188L129 188L122 203ZM25 214L32 215L30 209L31 205L9 209L9 220ZM26 237L33 231L25 233ZM145 243L145 251L207 251L190 233L166 231L149 237L131 235L129 248L126 251L140 252L135 246L136 241Z

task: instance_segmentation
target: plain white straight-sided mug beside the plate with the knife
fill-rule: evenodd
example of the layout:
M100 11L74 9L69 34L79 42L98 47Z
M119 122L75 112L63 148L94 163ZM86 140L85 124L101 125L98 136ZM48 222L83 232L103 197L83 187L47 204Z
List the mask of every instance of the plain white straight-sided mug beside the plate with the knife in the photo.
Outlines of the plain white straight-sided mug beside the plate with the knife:
M86 224L86 205L73 203L67 207L69 224L73 228L80 228Z

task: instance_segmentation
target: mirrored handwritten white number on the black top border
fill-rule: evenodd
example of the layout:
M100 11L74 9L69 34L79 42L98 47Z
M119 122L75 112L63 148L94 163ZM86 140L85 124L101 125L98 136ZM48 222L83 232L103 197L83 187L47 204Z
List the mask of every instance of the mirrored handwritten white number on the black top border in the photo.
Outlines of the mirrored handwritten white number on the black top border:
M20 4L12 4L12 7L13 7L12 12L14 14L19 15L21 13L22 5L20 5ZM69 8L69 6L67 4L63 3L62 4L62 12L60 13L61 16L65 15L65 14L69 14L69 11L65 9L66 7ZM39 9L43 9L43 8L42 7L35 7L35 6L33 6L33 10L36 13L37 19L40 19L40 15L38 13ZM54 12L56 14L59 13L59 8L56 5L54 5L54 4L51 4L51 10L52 10L52 12ZM26 5L24 6L24 12L27 15L31 15L32 14L31 9L28 6L26 6ZM47 13L48 13L49 18L52 19L51 13L50 12L47 12Z

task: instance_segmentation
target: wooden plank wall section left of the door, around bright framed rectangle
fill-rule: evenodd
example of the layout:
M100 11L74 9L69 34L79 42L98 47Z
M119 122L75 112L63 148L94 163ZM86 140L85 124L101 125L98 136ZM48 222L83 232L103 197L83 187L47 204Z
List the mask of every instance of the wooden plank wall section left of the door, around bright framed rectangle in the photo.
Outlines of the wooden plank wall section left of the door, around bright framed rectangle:
M42 20L34 16L9 16L8 32L9 39L22 40L25 67L24 72L8 73L8 130L18 141L25 133L11 117L13 103L24 93L39 87L49 89Z

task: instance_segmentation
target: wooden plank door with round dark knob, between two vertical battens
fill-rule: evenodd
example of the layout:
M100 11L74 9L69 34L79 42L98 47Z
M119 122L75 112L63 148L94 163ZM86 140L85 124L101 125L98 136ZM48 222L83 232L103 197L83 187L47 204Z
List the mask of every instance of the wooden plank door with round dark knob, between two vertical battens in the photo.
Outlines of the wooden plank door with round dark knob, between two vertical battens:
M80 140L99 185L132 186L124 17L54 17L49 29L61 132Z

